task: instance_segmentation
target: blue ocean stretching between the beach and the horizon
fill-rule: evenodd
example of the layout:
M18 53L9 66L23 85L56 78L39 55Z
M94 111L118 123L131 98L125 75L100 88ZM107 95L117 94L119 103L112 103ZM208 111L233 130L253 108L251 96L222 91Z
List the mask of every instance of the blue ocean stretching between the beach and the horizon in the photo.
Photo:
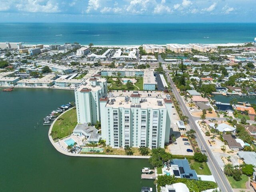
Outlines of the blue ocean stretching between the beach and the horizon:
M27 44L141 45L242 43L256 23L0 23L0 42Z

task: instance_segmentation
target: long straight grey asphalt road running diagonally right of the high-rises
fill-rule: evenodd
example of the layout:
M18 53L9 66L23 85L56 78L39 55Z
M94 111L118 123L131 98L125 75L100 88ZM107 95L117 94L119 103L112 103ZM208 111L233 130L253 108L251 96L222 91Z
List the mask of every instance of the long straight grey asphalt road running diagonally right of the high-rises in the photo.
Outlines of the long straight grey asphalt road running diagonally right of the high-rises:
M210 150L209 146L207 145L206 141L204 140L204 136L201 134L200 130L196 126L195 120L197 120L196 117L192 116L186 107L185 103L183 102L178 90L176 89L176 86L174 86L174 83L172 82L172 79L170 78L166 66L163 64L163 69L166 71L166 76L168 81L170 82L170 85L172 87L172 92L176 99L178 100L180 104L180 108L184 115L188 116L190 121L190 128L196 131L196 140L198 142L199 146L202 146L202 152L208 156L208 166L212 172L212 175L214 176L218 187L222 192L233 192L232 187L230 186L226 176L222 172L220 166L218 165L218 162L216 161L212 151Z

